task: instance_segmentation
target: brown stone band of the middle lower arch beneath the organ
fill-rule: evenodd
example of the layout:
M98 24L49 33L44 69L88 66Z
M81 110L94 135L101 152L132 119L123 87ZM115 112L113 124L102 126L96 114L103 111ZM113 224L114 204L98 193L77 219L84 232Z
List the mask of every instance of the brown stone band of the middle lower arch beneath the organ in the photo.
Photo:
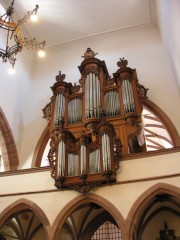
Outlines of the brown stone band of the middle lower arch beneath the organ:
M51 240L56 239L58 231L62 228L64 222L68 218L68 216L73 213L79 206L87 203L96 203L99 206L103 207L107 210L107 212L115 219L117 225L121 229L124 239L126 240L127 231L126 231L126 225L125 220L119 210L107 199L94 194L89 193L87 195L81 195L73 199L71 202L69 202L62 211L58 214L56 217L53 225L52 225L52 236Z

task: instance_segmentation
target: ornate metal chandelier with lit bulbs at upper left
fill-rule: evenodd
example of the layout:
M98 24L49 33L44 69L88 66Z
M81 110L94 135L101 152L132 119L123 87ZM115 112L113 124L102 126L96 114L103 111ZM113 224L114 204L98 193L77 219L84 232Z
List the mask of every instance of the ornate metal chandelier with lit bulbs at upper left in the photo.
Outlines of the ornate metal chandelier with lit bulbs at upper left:
M21 52L23 47L31 50L39 50L38 55L40 57L45 55L44 46L46 42L38 42L35 38L32 38L31 40L28 40L25 37L23 38L20 28L21 25L26 23L30 18L32 21L36 21L38 8L39 6L36 5L34 10L28 11L22 19L14 22L14 0L12 0L11 5L7 8L5 14L0 17L0 28L6 31L6 44L4 49L0 46L0 57L2 58L2 62L9 62L12 68L16 62L16 55L18 52Z

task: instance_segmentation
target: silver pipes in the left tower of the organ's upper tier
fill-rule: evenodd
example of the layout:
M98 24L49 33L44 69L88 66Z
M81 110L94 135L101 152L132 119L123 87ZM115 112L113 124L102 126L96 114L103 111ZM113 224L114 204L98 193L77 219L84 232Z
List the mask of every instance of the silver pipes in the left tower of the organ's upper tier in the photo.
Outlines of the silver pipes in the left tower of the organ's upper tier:
M55 100L54 126L59 126L59 120L64 116L65 98L62 93L58 93Z

